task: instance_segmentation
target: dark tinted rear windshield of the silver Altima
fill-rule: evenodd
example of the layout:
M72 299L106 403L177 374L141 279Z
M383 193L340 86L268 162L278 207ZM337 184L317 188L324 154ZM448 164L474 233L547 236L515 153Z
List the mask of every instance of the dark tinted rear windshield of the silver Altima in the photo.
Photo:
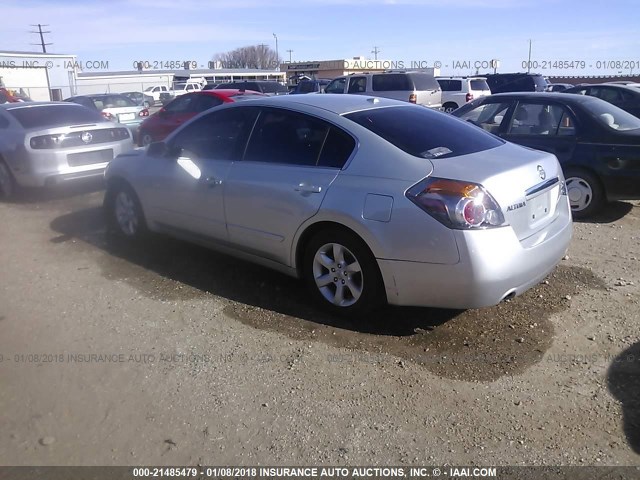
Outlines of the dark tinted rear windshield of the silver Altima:
M363 110L345 117L421 158L456 157L504 143L451 115L418 106Z

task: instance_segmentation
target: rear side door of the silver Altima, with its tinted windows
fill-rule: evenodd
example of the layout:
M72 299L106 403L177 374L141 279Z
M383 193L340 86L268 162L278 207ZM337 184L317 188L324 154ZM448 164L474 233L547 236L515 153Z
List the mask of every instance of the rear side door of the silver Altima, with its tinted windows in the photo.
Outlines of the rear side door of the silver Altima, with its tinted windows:
M354 148L351 136L323 120L263 108L225 187L229 240L288 265L296 231L316 214Z

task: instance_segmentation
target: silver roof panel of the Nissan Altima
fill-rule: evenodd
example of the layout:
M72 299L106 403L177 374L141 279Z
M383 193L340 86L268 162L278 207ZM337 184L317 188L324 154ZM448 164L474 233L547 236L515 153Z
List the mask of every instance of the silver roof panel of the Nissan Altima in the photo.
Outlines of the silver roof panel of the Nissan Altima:
M418 107L408 102L401 102L398 100L391 100L388 98L376 97L373 95L332 95L332 94L320 94L320 95L276 95L273 97L264 96L260 99L252 100L251 103L260 102L261 105L272 105L277 107L292 108L298 106L311 106L321 108L329 112L343 115L350 112L357 112L360 110L368 110L371 108L391 107L391 106L406 106L414 108Z

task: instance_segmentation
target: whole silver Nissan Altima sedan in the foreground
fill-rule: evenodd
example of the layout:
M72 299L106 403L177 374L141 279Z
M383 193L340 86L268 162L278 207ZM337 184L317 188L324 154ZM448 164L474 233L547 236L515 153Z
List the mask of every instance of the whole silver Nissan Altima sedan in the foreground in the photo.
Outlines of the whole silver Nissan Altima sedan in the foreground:
M572 233L555 156L361 95L216 107L105 176L117 235L266 265L339 314L495 305L544 279Z

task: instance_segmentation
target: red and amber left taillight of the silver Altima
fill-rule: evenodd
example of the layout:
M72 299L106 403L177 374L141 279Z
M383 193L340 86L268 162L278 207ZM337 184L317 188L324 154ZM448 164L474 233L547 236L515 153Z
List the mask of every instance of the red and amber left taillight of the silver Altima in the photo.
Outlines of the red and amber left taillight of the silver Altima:
M407 190L406 196L449 228L469 230L506 225L498 203L477 183L426 178Z

